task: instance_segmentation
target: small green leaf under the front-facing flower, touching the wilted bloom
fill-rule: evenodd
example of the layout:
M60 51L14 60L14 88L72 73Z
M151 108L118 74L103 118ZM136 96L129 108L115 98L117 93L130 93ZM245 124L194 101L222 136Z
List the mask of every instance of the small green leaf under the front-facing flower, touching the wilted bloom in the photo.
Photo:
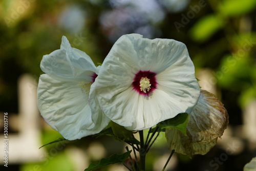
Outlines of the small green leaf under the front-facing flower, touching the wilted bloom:
M172 119L167 119L165 121L158 123L158 126L161 129L173 128L173 129L180 130L186 136L187 135L186 126L187 126L188 118L189 117L187 113L181 113Z

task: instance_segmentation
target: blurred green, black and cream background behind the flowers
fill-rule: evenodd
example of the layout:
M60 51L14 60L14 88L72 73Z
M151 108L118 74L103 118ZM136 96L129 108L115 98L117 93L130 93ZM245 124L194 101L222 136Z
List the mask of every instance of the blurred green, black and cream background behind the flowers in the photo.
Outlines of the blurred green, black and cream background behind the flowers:
M40 60L59 49L62 35L99 65L121 35L139 33L184 42L200 86L229 113L227 130L208 154L174 155L166 170L243 170L256 156L255 9L255 0L0 1L0 132L3 137L8 113L8 169L83 170L125 151L112 137L91 136L38 149L61 135L40 117L36 87ZM169 154L161 134L147 155L147 170L161 170ZM0 169L7 169L1 163Z

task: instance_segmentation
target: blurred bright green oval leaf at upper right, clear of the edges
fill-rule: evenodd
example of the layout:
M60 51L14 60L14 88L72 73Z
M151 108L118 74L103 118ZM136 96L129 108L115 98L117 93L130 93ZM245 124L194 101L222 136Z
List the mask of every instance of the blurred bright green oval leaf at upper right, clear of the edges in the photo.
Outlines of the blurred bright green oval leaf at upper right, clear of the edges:
M190 29L190 35L195 41L203 42L216 33L222 25L223 20L218 16L206 15Z

